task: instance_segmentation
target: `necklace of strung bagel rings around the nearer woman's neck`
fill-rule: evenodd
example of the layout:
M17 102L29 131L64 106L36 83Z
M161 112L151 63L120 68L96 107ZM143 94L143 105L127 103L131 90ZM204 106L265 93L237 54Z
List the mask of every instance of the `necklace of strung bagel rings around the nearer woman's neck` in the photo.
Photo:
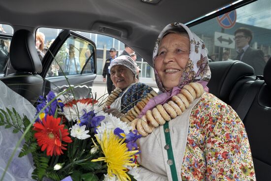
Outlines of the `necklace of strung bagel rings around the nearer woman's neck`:
M173 96L168 103L158 104L152 110L147 110L141 118L137 118L148 101L157 96L155 91L148 93L147 97L130 109L120 119L129 123L132 130L137 130L142 136L147 136L159 125L164 125L166 121L175 118L184 112L196 98L200 98L204 93L203 85L198 82L191 82L180 90L180 93Z

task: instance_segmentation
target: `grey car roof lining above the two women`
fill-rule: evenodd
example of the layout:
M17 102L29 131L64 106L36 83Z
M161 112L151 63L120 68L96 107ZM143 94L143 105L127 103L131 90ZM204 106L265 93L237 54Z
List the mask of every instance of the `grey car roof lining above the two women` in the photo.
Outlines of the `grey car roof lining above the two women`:
M105 34L126 43L151 63L155 40L164 26L190 22L234 1L1 0L0 23L15 30L55 27ZM99 29L101 25L107 26L104 32Z

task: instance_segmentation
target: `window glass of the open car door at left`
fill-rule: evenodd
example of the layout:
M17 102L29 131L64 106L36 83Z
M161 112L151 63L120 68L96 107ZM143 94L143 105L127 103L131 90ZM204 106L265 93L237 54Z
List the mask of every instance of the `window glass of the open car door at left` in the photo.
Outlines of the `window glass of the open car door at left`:
M81 74L85 64L82 73L94 73L93 51L89 42L71 35L57 53L47 77Z

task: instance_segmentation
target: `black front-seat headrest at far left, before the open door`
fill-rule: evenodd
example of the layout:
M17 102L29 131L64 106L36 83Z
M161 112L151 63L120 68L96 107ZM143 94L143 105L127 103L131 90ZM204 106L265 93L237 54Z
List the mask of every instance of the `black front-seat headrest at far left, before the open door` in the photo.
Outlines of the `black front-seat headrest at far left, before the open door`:
M16 71L41 73L42 64L38 57L34 35L26 29L19 29L10 43L10 63Z

